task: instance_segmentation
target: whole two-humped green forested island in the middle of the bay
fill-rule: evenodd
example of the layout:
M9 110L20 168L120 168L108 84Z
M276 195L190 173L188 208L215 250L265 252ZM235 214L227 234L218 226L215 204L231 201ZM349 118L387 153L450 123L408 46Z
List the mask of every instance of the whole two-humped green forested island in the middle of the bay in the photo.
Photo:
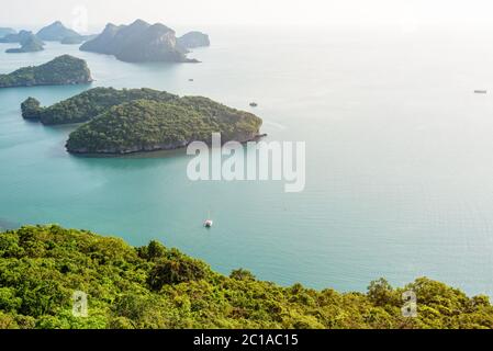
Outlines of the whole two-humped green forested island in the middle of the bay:
M22 103L24 118L46 125L83 123L69 136L72 154L125 155L170 150L192 141L246 143L258 137L262 120L202 97L153 89L94 88L42 107L34 98Z

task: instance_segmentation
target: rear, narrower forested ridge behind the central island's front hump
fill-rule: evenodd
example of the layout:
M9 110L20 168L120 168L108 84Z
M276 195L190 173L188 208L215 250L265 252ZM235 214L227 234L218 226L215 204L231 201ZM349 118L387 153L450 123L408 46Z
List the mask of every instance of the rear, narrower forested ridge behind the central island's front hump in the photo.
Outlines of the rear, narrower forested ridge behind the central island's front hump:
M166 102L178 99L166 91L153 89L93 88L52 106L42 107L40 101L29 98L23 102L24 118L38 120L45 125L88 122L111 107L135 100Z

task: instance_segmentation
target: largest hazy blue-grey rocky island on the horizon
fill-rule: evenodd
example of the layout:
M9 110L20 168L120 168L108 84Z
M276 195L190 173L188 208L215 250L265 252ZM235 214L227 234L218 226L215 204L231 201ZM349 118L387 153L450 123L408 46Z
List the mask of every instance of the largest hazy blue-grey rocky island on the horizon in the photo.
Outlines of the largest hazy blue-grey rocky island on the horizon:
M198 63L187 58L187 49L177 45L175 31L164 24L137 20L130 25L108 24L94 39L86 42L83 52L114 55L130 63Z

